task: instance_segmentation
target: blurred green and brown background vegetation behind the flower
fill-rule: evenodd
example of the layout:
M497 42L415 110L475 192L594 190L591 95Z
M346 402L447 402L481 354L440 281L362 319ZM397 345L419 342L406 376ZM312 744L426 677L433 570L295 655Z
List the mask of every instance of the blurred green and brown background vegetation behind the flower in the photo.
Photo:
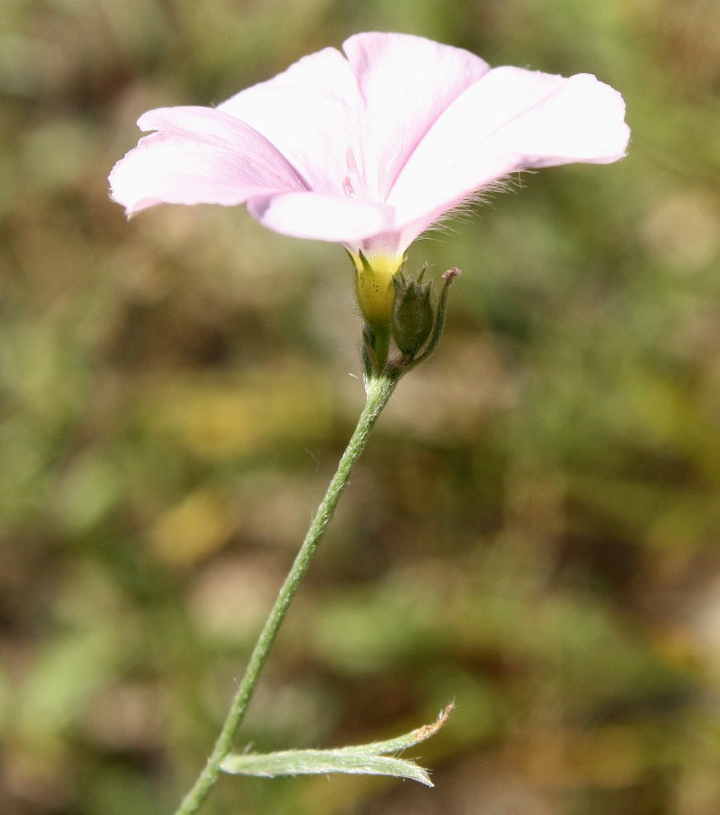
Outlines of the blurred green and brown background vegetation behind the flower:
M337 246L107 197L141 112L363 30L592 72L629 158L415 245L464 275L239 746L432 721L436 788L221 781L212 813L720 811L720 4L3 0L0 811L158 815L205 760L360 411Z

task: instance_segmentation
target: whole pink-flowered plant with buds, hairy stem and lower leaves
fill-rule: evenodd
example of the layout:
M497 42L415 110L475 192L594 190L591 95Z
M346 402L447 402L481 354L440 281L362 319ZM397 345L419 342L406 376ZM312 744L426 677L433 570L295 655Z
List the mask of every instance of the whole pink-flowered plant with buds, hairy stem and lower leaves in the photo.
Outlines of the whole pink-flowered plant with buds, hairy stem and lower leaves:
M435 350L450 269L409 273L408 246L457 206L523 169L625 155L618 91L589 74L565 78L491 68L473 53L407 34L356 34L216 108L150 110L152 130L110 173L128 215L158 204L244 204L283 235L341 245L362 318L366 405L249 658L206 765L178 808L199 810L221 772L362 772L430 785L396 757L437 723L386 742L334 750L233 753L274 639L370 430L410 369Z

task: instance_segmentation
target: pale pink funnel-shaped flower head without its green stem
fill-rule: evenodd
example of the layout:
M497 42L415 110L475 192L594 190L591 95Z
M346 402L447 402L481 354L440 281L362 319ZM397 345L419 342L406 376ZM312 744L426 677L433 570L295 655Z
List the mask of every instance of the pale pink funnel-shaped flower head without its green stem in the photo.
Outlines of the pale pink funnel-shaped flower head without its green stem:
M618 91L494 68L408 34L356 34L217 108L150 110L110 174L129 215L245 204L284 235L360 251L383 277L448 210L523 168L607 164L629 129ZM388 276L389 275L389 276Z

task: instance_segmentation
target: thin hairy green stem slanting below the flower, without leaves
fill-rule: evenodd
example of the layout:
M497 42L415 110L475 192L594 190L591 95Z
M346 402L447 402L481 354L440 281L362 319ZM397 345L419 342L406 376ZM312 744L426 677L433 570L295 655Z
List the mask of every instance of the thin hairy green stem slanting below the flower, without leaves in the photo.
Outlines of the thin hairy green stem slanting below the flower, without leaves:
M350 481L350 473L368 441L370 430L375 425L382 408L387 405L389 398L392 396L399 377L400 374L397 370L388 367L378 377L369 380L367 385L368 398L365 408L360 414L358 425L355 427L350 442L342 454L337 472L332 476L331 483L328 486L328 491L325 493L325 497L312 519L305 540L302 542L302 547L293 562L293 568L285 578L283 588L280 590L277 600L275 600L273 610L265 621L263 631L255 643L250 661L245 669L245 676L243 676L243 680L237 688L235 698L232 705L230 705L225 724L223 724L222 730L217 737L213 752L210 753L203 771L197 776L197 781L183 799L175 815L189 815L191 812L197 812L215 786L220 776L220 763L233 748L235 735L243 722L247 705L254 694L258 679L270 654L270 649L273 647L274 640L283 624L285 614L290 608L293 597L300 588L302 579L310 567L312 556L322 540L328 523L330 523L332 513L334 513L335 507L340 501L341 494Z

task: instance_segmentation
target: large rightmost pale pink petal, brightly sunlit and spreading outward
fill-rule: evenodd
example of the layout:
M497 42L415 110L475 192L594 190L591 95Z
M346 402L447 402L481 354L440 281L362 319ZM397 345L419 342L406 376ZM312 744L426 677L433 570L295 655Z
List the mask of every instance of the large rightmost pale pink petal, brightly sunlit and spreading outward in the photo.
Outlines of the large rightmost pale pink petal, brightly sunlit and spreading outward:
M418 228L515 170L616 161L629 139L624 113L618 91L589 74L495 68L428 131L388 203L399 225Z

